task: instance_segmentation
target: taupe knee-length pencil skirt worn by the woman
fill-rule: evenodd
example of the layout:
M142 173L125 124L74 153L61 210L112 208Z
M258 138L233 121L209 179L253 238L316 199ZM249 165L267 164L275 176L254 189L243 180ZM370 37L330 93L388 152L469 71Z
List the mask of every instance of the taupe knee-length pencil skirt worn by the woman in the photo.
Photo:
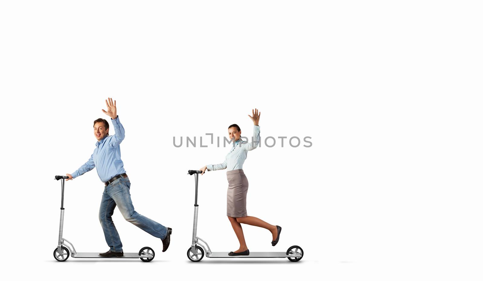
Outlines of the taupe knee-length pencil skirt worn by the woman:
M246 214L246 193L248 191L248 180L243 169L227 172L227 216L243 217Z

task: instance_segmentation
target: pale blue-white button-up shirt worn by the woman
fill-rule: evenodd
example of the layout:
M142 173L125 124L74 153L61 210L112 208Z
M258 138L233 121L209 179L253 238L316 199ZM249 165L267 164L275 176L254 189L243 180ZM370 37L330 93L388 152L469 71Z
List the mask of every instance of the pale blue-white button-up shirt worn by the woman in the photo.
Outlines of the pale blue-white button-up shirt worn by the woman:
M243 142L240 139L235 142L235 147L230 148L230 152L228 152L227 156L225 157L225 161L220 164L214 165L207 165L208 171L216 171L227 169L227 171L232 171L236 169L243 168L243 162L245 162L246 155L249 150L253 150L258 146L260 142L260 126L253 126L253 141Z

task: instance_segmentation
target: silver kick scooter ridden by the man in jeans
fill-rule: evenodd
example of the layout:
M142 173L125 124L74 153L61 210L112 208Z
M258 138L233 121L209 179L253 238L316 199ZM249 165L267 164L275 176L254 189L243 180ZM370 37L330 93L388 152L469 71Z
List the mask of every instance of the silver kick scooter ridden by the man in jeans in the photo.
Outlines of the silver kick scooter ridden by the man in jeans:
M72 253L72 257L83 257L83 258L140 258L143 262L150 262L154 259L154 251L149 247L143 247L139 250L139 253L124 253L123 256L111 256L111 257L104 257L100 256L99 253L78 253L75 251L74 245L69 242L67 239L62 237L62 231L64 228L64 181L68 179L68 176L65 175L56 175L56 180L62 180L62 199L60 202L60 226L59 226L59 242L57 248L54 250L54 258L59 262L65 262L70 253ZM68 244L66 244L66 242ZM69 246L70 245L70 246Z

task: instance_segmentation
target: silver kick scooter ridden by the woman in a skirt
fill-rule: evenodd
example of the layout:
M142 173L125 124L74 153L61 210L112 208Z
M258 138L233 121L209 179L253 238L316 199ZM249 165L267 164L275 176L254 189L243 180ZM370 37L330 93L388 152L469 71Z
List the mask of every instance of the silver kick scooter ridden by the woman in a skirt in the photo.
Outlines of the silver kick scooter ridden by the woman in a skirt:
M186 252L188 259L192 262L199 262L203 256L207 257L286 257L291 262L298 262L303 257L303 250L299 246L291 246L288 248L287 252L250 252L249 255L235 255L230 256L228 252L212 252L208 243L203 239L196 236L196 229L198 226L198 174L201 171L189 170L188 174L195 176L195 217L193 221L193 240L191 242L191 247L188 248ZM201 243L201 242L202 243ZM201 247L200 247L201 246Z

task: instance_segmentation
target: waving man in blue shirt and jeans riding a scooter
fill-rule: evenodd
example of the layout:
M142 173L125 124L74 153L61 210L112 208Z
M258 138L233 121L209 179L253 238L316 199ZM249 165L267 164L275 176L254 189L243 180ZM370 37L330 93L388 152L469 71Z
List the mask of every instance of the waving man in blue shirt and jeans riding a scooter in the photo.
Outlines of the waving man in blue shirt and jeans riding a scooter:
M121 160L119 145L125 136L124 127L117 115L116 101L112 98L106 100L107 111L102 109L106 115L111 117L115 134L109 135L109 123L104 119L94 121L94 136L97 139L96 148L90 159L85 162L77 171L66 174L67 180L72 180L96 167L100 180L104 183L104 192L99 208L99 221L104 231L104 237L109 246L109 251L99 254L103 257L121 257L124 255L121 239L117 233L112 219L114 209L118 206L123 217L133 225L141 228L147 233L161 239L163 252L170 246L170 235L172 229L149 219L134 211L131 201L128 175L124 170Z

